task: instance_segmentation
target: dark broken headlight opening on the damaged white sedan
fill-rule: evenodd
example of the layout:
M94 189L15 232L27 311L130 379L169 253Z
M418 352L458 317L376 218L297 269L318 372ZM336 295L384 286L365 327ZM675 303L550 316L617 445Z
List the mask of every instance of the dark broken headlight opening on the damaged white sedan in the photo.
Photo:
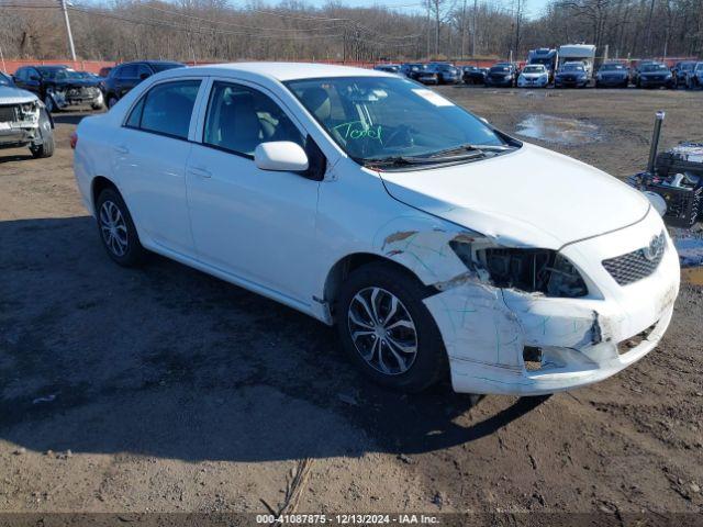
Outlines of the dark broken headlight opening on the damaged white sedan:
M584 296L589 292L576 267L556 250L486 247L465 242L451 242L449 246L469 270L488 273L498 288L557 298Z

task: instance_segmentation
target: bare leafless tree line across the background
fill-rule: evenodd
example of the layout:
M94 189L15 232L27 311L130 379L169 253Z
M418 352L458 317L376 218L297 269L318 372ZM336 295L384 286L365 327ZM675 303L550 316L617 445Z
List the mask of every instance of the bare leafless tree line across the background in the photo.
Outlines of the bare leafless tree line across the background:
M112 0L67 8L82 59L193 61L524 58L589 43L610 57L703 55L703 0L422 0L412 8L299 0ZM0 0L0 49L12 58L68 56L57 0Z

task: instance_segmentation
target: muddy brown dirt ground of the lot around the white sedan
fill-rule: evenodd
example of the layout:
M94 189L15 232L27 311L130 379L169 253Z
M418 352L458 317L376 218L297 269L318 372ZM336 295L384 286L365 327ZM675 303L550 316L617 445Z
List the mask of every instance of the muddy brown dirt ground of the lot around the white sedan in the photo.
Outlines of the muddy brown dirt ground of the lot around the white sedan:
M537 143L618 177L644 168L657 109L665 146L703 139L702 92L440 91L511 133L595 125ZM74 182L81 115L56 116L53 158L0 152L0 511L267 512L295 490L311 513L703 513L702 287L592 388L388 392L304 315L159 257L113 265Z

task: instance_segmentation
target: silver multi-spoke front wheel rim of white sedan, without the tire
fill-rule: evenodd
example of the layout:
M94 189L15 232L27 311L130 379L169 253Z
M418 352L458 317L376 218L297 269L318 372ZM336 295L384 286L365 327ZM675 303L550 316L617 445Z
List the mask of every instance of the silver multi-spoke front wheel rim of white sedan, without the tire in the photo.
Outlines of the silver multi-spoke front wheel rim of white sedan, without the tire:
M347 326L361 358L375 370L398 375L417 356L417 332L408 309L381 288L366 288L349 303Z

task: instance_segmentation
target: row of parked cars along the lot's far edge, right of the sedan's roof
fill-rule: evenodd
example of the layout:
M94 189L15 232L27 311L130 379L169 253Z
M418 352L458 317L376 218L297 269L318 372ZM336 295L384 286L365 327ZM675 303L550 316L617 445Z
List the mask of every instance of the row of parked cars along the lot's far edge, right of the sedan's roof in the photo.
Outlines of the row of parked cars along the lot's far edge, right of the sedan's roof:
M588 65L580 61L563 63L556 71L544 64L527 64L520 68L514 63L496 63L490 68L457 67L450 63L380 64L375 69L404 75L425 85L483 85L506 88L687 88L703 87L703 61L677 63L669 69L655 60L641 60L635 68L621 61L605 61L593 76Z

